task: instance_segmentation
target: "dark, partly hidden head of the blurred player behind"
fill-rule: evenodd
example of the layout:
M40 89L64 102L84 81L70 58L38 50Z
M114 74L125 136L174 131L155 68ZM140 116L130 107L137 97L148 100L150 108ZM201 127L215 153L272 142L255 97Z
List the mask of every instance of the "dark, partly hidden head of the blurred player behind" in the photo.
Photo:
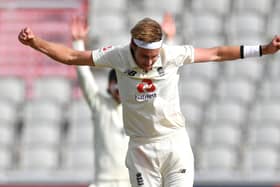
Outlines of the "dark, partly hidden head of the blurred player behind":
M114 69L109 72L107 91L118 103L121 103L117 75Z

